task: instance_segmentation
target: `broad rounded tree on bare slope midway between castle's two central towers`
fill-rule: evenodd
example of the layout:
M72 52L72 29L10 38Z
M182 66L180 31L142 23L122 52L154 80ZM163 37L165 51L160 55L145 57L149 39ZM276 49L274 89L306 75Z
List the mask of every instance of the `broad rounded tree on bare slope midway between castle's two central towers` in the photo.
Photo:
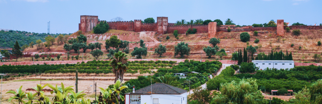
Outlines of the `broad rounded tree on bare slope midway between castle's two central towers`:
M185 55L189 55L189 53L190 47L188 46L188 43L185 44L185 42L181 42L175 46L175 56L180 55L181 58L183 58Z

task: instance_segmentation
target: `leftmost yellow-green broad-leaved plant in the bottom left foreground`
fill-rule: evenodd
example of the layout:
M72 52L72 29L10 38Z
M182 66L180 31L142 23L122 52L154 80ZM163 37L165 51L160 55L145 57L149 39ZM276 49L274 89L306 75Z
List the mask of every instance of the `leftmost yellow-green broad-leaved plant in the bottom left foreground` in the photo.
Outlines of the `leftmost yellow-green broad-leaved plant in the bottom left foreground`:
M12 99L17 99L17 100L18 100L18 102L19 102L19 104L20 104L20 102L21 102L22 104L25 104L25 103L26 103L23 99L24 99L24 97L26 97L26 94L27 94L27 93L23 92L23 91L21 90L21 88L22 88L22 86L20 86L20 88L19 88L19 89L17 89L17 92L15 92L15 91L13 91L13 90L9 90L8 92L6 92L6 94L7 94L7 93L14 94L14 96L13 96L13 97L10 97L10 98L8 99L8 102L10 102Z

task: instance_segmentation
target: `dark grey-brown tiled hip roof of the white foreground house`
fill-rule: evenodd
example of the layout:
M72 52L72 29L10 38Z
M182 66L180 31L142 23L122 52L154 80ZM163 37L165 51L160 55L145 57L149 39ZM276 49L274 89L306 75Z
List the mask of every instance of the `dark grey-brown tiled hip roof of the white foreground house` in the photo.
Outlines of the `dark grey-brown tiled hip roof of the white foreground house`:
M152 84L152 94L183 94L185 92L187 92L187 90L164 83ZM151 94L151 85L139 90L135 90L135 93L130 92L127 94Z

